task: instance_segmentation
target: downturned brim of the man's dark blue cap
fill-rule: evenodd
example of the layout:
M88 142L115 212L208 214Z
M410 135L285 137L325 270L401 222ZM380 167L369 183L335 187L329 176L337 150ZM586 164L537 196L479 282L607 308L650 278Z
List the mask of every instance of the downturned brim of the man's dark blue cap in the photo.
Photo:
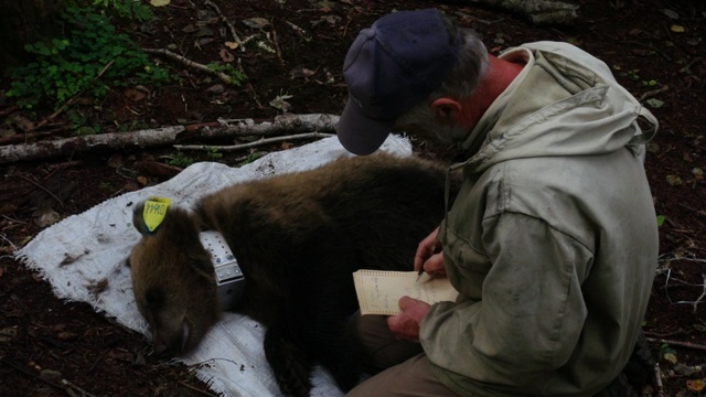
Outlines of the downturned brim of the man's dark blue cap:
M339 141L353 154L365 155L377 150L395 125L395 119L377 120L363 116L360 107L349 98L335 127Z

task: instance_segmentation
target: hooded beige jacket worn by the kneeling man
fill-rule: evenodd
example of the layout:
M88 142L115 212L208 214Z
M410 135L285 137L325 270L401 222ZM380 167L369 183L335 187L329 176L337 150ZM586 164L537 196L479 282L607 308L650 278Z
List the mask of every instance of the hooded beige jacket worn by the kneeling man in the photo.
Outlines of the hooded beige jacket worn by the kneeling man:
M527 64L466 142L475 154L440 233L460 297L432 307L421 344L462 396L591 396L628 361L650 297L643 143L657 124L573 45L501 57Z

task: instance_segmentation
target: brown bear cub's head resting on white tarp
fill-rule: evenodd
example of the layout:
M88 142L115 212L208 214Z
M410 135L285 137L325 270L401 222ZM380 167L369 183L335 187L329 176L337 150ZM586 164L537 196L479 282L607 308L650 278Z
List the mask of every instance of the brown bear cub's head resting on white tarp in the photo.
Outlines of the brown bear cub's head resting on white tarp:
M193 215L164 208L163 219L150 230L145 205L137 205L132 216L142 235L128 259L135 299L149 323L154 350L172 356L185 354L220 319L211 254L199 239Z

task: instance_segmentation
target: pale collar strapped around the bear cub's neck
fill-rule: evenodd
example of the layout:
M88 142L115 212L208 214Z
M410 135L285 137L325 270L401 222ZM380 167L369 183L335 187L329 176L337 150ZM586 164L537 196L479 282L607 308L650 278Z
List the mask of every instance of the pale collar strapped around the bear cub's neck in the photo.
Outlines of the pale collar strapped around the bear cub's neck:
M218 305L222 311L235 309L243 299L245 276L235 259L225 237L220 232L206 230L199 234L203 247L211 253L211 262L218 285Z

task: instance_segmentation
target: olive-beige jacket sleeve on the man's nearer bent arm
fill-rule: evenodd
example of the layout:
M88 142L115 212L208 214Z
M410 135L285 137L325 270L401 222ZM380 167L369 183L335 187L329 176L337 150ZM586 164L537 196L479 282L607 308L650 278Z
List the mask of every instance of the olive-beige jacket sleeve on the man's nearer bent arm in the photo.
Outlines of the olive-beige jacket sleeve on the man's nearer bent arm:
M420 341L429 360L506 386L565 364L586 319L580 285L589 249L539 218L507 212L483 221L478 247L448 233L454 243L445 247L445 265L461 296L464 282L484 280L480 300L439 303L425 316Z

